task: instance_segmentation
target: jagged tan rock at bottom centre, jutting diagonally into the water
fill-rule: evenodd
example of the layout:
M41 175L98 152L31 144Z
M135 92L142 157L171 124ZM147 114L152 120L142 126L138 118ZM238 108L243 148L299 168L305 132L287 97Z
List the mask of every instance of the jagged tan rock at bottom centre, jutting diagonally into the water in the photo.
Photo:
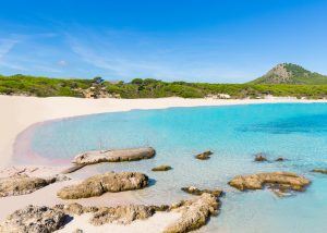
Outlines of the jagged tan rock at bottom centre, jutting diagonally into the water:
M169 224L165 233L183 233L199 229L205 225L211 214L218 213L219 201L211 195L204 193L192 200L180 201L172 205L172 210L182 216L172 224Z

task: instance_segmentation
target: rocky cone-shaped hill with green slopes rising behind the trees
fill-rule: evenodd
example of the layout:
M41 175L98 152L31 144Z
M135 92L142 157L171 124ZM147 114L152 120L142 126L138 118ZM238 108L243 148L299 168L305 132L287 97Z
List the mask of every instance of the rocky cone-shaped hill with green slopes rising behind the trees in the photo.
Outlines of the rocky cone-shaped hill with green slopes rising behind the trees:
M251 84L327 84L327 76L311 72L298 64L281 63Z

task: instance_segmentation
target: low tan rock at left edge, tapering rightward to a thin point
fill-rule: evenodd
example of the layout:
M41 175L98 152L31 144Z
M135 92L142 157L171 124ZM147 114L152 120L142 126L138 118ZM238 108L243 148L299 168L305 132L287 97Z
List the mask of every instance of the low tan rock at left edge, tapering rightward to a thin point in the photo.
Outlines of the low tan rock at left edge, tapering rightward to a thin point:
M40 179L27 175L14 175L0 179L0 197L31 194L57 181L68 180L66 176L57 175Z

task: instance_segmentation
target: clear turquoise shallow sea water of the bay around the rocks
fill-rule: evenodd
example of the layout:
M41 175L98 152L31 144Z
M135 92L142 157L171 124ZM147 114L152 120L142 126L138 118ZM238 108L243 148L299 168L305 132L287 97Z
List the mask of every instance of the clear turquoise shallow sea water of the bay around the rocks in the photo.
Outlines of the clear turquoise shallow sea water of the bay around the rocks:
M105 163L97 172L140 171L155 185L135 192L140 201L167 204L189 198L180 188L222 187L221 213L201 232L327 232L327 105L251 105L173 108L106 113L50 122L34 128L33 151L48 159L70 160L84 150L153 146L155 159ZM194 159L204 150L207 161ZM286 162L255 163L254 154ZM154 173L170 164L172 171ZM238 174L293 171L313 181L305 193L278 198L269 191L238 192L227 182Z

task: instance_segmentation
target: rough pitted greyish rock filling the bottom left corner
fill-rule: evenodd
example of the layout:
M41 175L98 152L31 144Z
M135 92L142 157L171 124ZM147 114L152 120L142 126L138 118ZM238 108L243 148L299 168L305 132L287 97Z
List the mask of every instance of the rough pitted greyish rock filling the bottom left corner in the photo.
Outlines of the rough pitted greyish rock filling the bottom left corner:
M7 233L50 233L61 229L66 214L49 207L27 206L11 213L0 224L0 232Z

